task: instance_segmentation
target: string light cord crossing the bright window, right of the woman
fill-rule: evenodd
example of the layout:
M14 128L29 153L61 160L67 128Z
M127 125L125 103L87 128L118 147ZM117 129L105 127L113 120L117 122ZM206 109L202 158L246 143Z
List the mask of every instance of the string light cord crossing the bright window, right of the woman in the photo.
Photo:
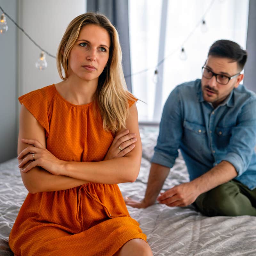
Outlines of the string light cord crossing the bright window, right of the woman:
M187 36L187 38L183 41L183 43L181 44L181 47L188 41L188 39L194 34L196 28L198 28L200 26L200 24L202 23L202 20L204 20L204 17L205 15L210 11L213 3L215 2L215 0L212 0L211 3L208 5L208 7L206 8L206 11L204 12L204 15L202 16L202 18L197 22L195 28L189 33L189 35ZM151 68L146 68L146 69L143 69L141 71L138 71L138 72L135 72L135 73L132 73L130 75L126 75L124 76L125 78L126 77L130 77L130 76L134 76L134 75L139 75L141 73L144 73L144 72L147 72L148 70L150 69L157 69L161 64L163 64L163 62L168 59L169 57L171 57L175 52L177 52L178 50L180 49L180 46L177 47L175 50L173 50L169 55L167 55L166 57L164 57L162 60L160 60L156 66L154 67L151 67Z

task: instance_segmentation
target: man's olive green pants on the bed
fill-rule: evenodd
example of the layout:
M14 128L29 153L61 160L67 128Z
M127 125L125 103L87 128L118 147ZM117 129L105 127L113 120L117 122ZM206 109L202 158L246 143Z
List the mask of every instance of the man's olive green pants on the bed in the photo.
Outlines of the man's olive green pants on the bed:
M256 188L230 180L198 196L194 205L206 216L256 216Z

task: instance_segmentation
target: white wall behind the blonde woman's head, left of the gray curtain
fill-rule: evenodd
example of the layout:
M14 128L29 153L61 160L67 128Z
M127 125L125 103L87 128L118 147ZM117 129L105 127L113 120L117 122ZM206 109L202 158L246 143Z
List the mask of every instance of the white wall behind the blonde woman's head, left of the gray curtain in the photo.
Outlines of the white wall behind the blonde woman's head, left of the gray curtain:
M19 23L33 40L56 56L61 37L68 23L86 12L86 0L20 0ZM40 71L35 67L40 50L19 33L18 94L23 95L60 81L56 60L46 55L48 67Z

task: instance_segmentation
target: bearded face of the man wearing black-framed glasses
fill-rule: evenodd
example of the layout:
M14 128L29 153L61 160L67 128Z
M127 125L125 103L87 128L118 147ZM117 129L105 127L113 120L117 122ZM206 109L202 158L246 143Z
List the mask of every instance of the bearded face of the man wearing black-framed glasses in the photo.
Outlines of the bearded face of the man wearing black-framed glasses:
M228 77L234 76L239 73L237 62L228 58L221 58L209 55L204 68L208 68L213 73L225 75ZM216 76L207 79L202 76L201 86L204 100L211 102L213 107L216 108L222 101L224 101L233 88L238 87L240 81L244 78L243 74L230 79L228 84L220 84L216 81Z

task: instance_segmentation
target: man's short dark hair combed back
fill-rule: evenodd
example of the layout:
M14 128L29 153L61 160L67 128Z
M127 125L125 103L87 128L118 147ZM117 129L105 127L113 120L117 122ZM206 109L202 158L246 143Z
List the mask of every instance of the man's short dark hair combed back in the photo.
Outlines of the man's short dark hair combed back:
M247 60L247 52L241 46L230 40L218 40L212 44L208 52L209 55L228 58L237 62L241 71Z

